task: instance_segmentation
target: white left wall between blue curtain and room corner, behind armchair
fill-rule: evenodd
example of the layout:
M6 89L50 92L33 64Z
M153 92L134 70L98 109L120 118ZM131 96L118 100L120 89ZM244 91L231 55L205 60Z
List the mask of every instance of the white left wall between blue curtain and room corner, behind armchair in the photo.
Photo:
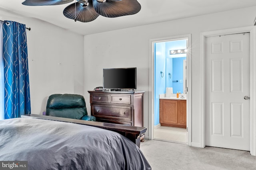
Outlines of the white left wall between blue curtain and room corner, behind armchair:
M84 94L84 36L0 8L0 20L31 27L27 33L31 113L41 114L51 94Z

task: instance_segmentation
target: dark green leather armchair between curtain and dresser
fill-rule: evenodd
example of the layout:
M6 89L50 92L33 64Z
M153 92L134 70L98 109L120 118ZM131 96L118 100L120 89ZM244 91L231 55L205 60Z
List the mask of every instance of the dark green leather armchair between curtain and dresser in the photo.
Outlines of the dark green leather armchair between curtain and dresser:
M52 94L46 104L46 115L96 121L87 113L84 96L79 94Z

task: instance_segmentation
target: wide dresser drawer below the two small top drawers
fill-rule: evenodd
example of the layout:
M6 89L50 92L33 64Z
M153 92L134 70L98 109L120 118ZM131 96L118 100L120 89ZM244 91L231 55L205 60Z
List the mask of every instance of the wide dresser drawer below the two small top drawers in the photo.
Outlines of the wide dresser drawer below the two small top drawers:
M95 117L132 120L132 107L130 106L93 105L91 109Z

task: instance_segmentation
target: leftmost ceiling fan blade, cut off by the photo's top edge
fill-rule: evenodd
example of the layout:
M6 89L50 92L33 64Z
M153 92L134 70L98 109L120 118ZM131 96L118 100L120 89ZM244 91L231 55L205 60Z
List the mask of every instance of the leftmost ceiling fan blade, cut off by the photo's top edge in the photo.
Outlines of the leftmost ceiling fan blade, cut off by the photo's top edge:
M72 1L74 0L25 0L22 4L27 6L46 6L67 4Z

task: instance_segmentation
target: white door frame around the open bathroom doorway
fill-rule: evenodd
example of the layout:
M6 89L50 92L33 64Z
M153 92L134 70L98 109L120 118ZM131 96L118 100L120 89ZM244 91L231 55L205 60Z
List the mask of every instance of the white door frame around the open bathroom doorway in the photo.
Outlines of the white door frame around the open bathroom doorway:
M163 41L175 41L181 39L188 39L187 52L187 128L188 128L188 146L191 146L191 34L177 35L172 37L163 37L157 39L150 39L149 42L149 124L148 124L148 138L153 139L154 128L154 43Z

